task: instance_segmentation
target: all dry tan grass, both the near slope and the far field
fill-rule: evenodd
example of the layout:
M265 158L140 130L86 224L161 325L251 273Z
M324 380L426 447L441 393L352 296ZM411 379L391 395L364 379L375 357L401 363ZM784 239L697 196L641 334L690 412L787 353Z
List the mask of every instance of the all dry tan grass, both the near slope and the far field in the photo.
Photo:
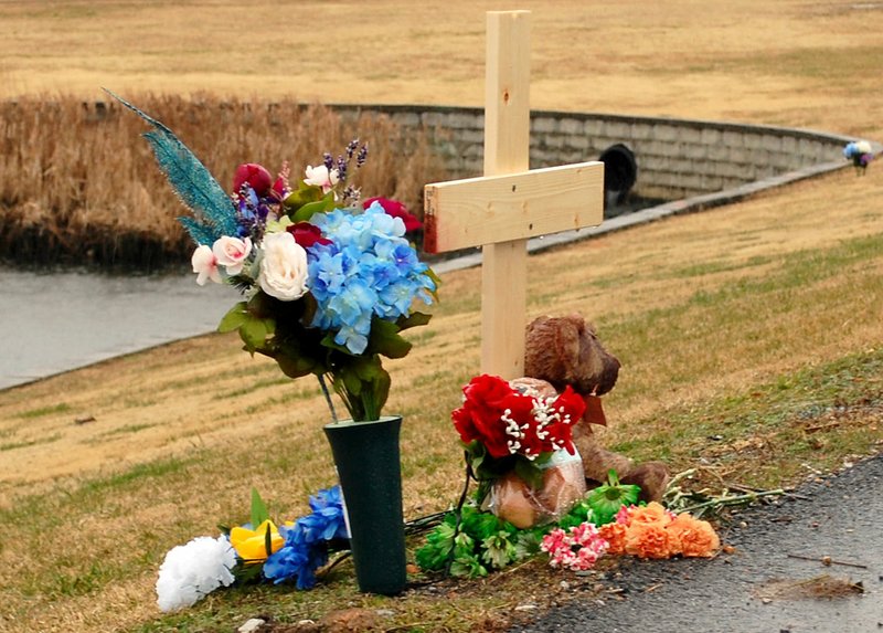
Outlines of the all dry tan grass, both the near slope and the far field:
M883 139L883 105L870 97L883 65L874 39L883 7L573 4L518 7L534 11L534 107ZM0 76L9 96L89 96L110 84L479 105L482 13L511 7L454 2L444 14L428 2L408 7L405 14L391 1L257 2L248 20L287 19L291 31L234 31L243 10L233 2L215 3L211 15L195 4L151 13L134 2L7 3ZM322 36L298 30L307 11L308 31ZM184 38L194 22L204 35ZM241 46L235 60L231 42ZM349 54L329 42L345 43ZM328 63L341 54L345 63ZM836 470L880 451L880 167L531 259L530 315L581 312L623 360L605 397L609 445L675 471L700 464L694 484L717 488L792 485L807 466ZM412 355L390 363L387 409L406 419L408 517L456 496L461 473L448 415L478 367L477 272L446 275L442 297L434 321L413 336ZM466 631L504 626L528 600L563 600L542 589L563 578L541 562L397 600L357 594L343 567L313 592L225 592L160 616L152 583L169 548L215 534L219 521L245 520L253 485L274 513L294 517L333 479L325 415L317 387L292 384L228 336L0 392L0 629L217 631L257 613L297 621L352 604L391 610L382 627Z

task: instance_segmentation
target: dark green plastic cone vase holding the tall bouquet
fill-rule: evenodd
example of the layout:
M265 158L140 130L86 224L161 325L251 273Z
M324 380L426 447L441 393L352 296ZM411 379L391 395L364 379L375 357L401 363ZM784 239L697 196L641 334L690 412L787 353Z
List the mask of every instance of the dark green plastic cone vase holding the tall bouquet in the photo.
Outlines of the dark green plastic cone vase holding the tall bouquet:
M343 492L355 578L365 593L395 595L407 581L401 428L398 416L325 426Z

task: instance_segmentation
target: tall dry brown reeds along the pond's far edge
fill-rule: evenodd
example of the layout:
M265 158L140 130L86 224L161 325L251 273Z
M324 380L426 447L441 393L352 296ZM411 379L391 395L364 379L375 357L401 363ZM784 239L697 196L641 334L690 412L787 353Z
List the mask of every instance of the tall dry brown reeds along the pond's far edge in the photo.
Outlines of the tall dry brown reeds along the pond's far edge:
M127 95L130 96L130 95ZM288 160L295 176L354 137L370 159L354 177L366 197L422 208L425 182L443 177L426 138L389 118L348 119L321 105L136 95L225 188L235 167ZM0 103L0 257L17 265L97 264L153 270L185 261L185 213L157 168L145 124L116 103L26 97Z

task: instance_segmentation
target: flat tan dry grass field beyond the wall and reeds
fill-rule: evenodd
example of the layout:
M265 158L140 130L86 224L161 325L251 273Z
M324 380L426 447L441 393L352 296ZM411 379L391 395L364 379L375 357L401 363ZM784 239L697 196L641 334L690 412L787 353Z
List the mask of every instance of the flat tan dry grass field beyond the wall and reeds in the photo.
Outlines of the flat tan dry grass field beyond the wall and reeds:
M485 11L513 8L533 12L534 107L883 138L883 11L850 0L8 2L0 96L481 105Z

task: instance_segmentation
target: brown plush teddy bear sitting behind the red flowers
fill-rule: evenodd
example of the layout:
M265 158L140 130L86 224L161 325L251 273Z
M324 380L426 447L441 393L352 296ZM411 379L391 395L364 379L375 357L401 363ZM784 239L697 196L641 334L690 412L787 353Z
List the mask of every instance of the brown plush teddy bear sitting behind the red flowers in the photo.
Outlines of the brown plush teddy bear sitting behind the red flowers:
M599 397L614 388L619 367L619 360L604 349L593 327L579 315L542 316L528 326L524 374L534 380L525 382L536 389L542 388L536 380L545 381L558 392L570 384L586 401L586 413L574 428L574 444L583 457L586 478L600 484L613 468L621 483L641 487L642 500L659 502L669 481L667 466L661 462L635 464L603 449L592 431L592 424L606 425ZM594 487L592 482L589 486Z

